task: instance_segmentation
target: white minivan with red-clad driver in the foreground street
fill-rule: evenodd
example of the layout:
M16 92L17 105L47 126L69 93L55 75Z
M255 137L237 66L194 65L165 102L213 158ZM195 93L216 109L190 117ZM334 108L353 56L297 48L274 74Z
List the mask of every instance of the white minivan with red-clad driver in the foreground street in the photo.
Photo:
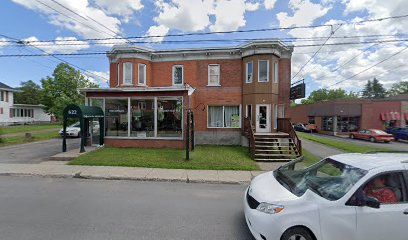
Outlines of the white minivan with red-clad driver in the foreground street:
M407 240L408 154L295 160L255 177L245 219L257 240Z

